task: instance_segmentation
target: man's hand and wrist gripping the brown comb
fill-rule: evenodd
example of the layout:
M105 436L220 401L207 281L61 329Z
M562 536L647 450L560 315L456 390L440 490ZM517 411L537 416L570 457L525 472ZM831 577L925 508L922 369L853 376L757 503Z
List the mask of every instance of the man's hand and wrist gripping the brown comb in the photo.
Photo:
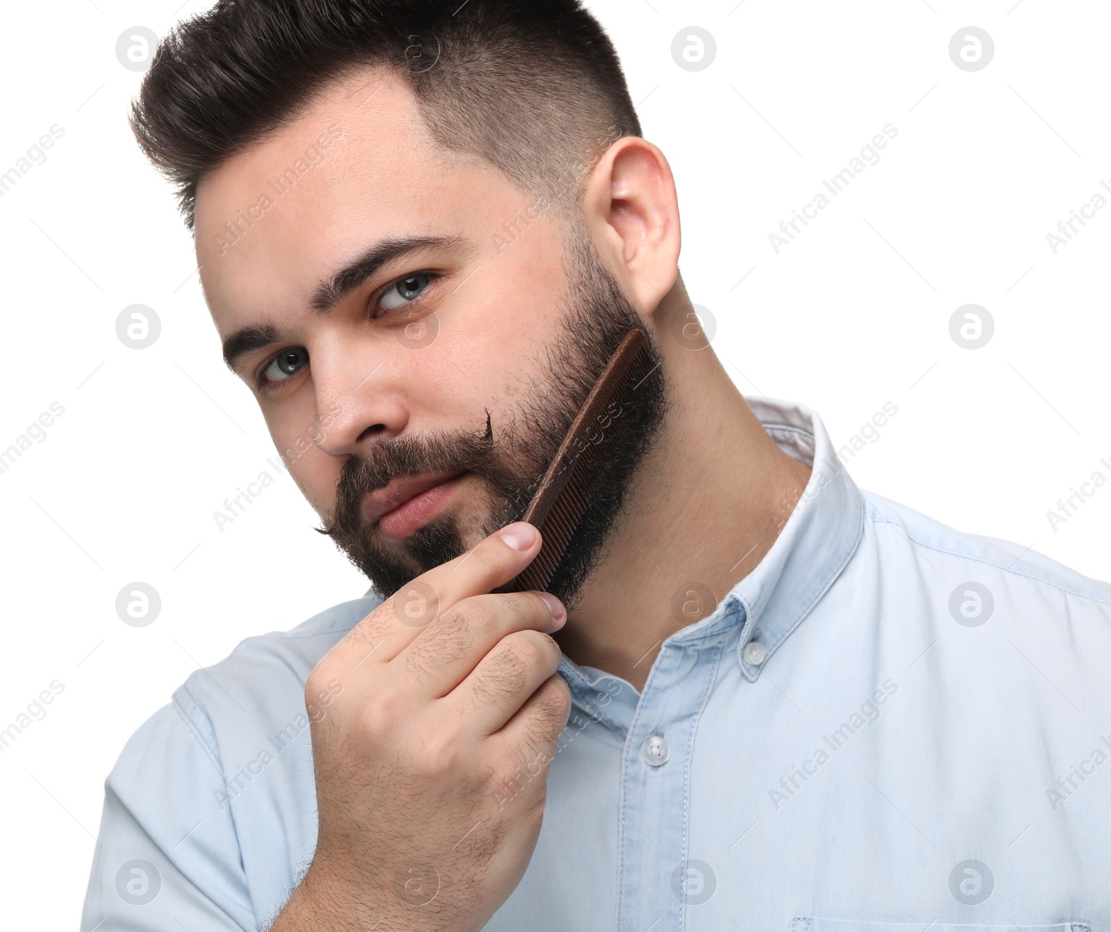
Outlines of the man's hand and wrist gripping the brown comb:
M540 551L518 522L418 577L306 684L319 838L282 930L481 929L524 874L571 702L550 593L491 593ZM337 689L337 684L341 689Z

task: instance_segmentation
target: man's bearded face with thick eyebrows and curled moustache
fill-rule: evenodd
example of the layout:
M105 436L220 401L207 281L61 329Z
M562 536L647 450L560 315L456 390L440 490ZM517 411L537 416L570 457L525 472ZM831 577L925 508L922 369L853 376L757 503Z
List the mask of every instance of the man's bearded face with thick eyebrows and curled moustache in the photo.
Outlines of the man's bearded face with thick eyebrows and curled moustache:
M196 235L290 473L389 595L520 518L618 342L650 325L585 232L437 147L404 82L368 74L203 179ZM663 408L657 369L549 587L568 603Z

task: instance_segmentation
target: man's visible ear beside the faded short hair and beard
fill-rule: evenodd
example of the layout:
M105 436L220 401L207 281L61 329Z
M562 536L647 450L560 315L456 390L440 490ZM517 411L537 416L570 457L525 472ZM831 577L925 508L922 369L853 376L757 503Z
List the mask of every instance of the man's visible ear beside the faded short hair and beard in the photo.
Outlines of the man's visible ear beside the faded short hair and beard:
M603 261L651 317L679 273L679 199L663 153L640 137L619 139L590 173L582 211Z

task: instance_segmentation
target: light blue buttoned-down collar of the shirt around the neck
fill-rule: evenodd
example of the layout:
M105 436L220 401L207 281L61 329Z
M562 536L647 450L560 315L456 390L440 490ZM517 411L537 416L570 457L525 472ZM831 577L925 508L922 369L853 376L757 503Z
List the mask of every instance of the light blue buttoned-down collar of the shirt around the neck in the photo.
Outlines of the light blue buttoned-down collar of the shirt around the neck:
M737 661L748 680L833 584L857 550L864 528L863 498L838 460L821 418L804 404L745 395L769 437L783 452L811 467L810 479L764 558L700 621L677 631L664 645L720 637L743 625ZM745 648L750 642L758 647ZM564 657L560 672L592 688L602 671Z

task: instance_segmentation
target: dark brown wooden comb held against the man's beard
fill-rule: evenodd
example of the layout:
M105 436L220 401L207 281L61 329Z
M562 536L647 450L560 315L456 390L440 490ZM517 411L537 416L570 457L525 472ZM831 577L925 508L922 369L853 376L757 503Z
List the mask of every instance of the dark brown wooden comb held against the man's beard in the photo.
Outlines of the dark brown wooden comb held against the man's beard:
M494 592L543 592L551 582L571 535L590 507L585 477L591 465L611 452L614 418L635 388L651 373L648 338L639 328L630 330L605 363L575 414L571 427L544 472L521 521L540 531L540 552L517 577Z

